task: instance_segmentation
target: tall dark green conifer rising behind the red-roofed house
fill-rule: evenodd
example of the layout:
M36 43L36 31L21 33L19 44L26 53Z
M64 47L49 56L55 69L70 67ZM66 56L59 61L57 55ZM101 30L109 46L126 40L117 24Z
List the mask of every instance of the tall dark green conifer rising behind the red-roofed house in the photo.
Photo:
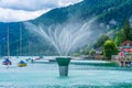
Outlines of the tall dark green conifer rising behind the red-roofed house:
M131 29L129 19L127 19L124 22L123 31L124 31L124 40L132 41L132 29Z

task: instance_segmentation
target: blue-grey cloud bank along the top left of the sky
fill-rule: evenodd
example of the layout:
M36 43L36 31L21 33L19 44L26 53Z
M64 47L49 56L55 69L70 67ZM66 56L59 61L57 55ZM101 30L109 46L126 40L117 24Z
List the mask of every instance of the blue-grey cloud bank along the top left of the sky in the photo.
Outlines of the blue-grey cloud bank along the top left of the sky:
M35 11L40 9L50 9L55 7L55 1L50 0L1 0L0 7L14 10Z

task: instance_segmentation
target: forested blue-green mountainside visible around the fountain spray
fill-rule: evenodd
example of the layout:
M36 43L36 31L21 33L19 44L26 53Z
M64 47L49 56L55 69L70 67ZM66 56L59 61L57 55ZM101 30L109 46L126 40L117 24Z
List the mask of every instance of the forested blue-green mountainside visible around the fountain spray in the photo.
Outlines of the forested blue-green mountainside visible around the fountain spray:
M132 14L132 0L84 0L77 4L65 8L53 9L50 12L28 22L34 24L43 23L45 26L65 24L69 21L87 22L91 18L97 18L96 28L100 32L109 32L111 29L122 28L124 20ZM32 34L23 25L24 22L0 23L0 47L1 55L7 55L7 28L10 29L11 55L19 55L20 28L22 28L22 55L54 55L53 46ZM30 47L29 47L30 46ZM33 51L34 50L34 51Z

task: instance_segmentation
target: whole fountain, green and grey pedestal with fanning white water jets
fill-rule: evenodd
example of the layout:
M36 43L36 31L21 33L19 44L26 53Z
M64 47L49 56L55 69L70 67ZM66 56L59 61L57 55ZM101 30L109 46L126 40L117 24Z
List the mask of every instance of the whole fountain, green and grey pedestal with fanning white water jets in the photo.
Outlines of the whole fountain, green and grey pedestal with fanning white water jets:
M59 76L62 77L68 76L68 65L70 62L70 57L67 57L68 53L88 43L87 38L90 35L89 30L94 21L95 19L84 23L80 26L70 24L66 26L51 26L47 29L47 32L42 24L38 26L32 23L25 24L28 29L31 29L42 37L50 41L56 48L57 53L61 55L61 57L56 58L56 62L59 68Z

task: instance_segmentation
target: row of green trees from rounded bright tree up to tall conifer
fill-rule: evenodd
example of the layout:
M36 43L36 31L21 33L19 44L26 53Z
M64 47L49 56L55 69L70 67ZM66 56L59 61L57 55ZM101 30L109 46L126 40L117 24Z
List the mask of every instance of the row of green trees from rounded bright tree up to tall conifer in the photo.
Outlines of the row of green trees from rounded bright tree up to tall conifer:
M107 40L103 44L103 56L107 59L111 59L112 55L118 54L118 46L120 46L124 41L132 41L132 28L129 19L125 20L123 29L118 31L113 40Z

